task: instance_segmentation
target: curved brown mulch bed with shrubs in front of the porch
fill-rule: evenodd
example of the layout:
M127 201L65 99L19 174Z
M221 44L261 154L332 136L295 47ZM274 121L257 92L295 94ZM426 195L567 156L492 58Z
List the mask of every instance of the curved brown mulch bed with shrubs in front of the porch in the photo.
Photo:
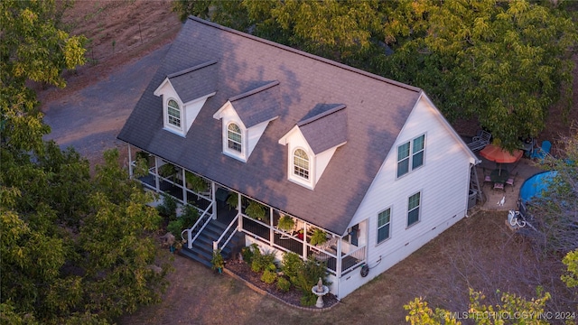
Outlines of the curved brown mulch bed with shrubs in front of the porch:
M261 281L261 274L256 273L251 270L251 266L242 261L228 261L225 267L233 274L236 274L241 279L245 280L247 283L251 283L263 292L267 292L275 298L285 302L286 304L299 307L307 308L301 305L301 297L303 293L296 289L294 286L288 292L282 292L277 289L276 283L264 283ZM332 293L328 293L323 296L323 309L331 308L333 305L337 304L339 301L337 297ZM312 308L317 309L315 306Z

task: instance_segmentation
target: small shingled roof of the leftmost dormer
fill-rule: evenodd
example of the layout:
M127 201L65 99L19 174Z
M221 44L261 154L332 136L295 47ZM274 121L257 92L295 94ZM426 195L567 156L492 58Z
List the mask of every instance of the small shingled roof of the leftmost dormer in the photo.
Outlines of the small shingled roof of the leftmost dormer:
M217 90L215 63L217 63L216 60L210 60L167 76L183 103L212 94Z

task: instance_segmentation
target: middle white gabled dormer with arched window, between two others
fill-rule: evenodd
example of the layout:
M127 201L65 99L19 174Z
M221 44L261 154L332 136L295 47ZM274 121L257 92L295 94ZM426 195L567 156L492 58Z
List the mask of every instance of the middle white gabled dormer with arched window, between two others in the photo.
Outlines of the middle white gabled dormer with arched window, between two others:
M279 116L279 81L228 98L214 118L222 121L223 153L247 162L269 122Z

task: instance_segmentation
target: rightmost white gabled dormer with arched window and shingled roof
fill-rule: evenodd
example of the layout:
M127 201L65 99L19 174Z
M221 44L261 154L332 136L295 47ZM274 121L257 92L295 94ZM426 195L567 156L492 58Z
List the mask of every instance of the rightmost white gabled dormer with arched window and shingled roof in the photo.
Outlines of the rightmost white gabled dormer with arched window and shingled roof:
M333 153L346 142L345 105L317 105L279 140L288 150L287 179L313 190Z

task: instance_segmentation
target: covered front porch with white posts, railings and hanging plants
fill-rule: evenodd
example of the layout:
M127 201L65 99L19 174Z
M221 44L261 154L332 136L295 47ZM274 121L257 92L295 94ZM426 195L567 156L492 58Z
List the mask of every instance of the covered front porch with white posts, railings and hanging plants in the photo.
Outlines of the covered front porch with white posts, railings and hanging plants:
M222 184L166 162L161 157L143 151L133 152L133 149L129 145L131 177L135 177L137 169L145 168L145 174L138 176L137 180L141 181L146 189L170 195L179 203L190 204L200 211L197 223L182 234L189 246L192 246L210 220L216 218L228 225L228 228L213 243L214 249L227 246L230 238L240 231L253 241L279 252L293 252L303 259L312 256L325 263L328 272L337 278L366 263L367 234L359 229L365 229L367 225L350 228L346 236L332 234L303 219L289 216ZM293 227L280 227L281 218L290 219Z

